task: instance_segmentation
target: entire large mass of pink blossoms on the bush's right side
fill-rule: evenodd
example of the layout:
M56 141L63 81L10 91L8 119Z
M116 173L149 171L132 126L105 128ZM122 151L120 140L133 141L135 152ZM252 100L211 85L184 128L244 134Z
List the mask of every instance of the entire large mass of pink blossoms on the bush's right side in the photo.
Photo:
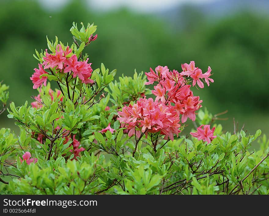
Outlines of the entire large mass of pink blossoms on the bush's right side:
M193 96L190 90L191 85L188 82L193 82L193 86L197 83L203 88L200 79L205 79L209 86L209 81L214 82L211 76L211 69L202 74L201 69L195 67L194 62L190 64L182 64L182 72L169 70L167 66L158 66L155 71L150 68L149 73L145 73L148 82L146 85L157 82L152 90L152 94L156 96L155 101L152 98L140 98L134 105L124 105L122 111L118 112L118 120L121 127L126 127L129 130L128 135L132 136L137 127L137 135L140 131L144 133L155 133L165 135L173 140L174 134L180 133L180 115L181 122L184 123L187 119L195 121L195 111L201 108L199 96ZM200 73L201 72L201 73ZM189 79L189 76L192 78Z

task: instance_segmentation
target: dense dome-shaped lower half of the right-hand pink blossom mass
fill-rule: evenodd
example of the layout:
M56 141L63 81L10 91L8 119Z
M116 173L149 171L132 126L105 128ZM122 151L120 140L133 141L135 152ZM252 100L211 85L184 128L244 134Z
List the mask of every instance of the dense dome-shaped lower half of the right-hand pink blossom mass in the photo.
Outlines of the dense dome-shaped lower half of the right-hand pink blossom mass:
M152 98L140 98L136 104L124 106L122 111L118 112L121 127L129 130L128 136L135 133L135 127L138 127L142 133L156 133L165 135L164 139L174 140L174 134L179 134L180 124L179 115L173 106L167 106L162 101L153 101ZM140 130L136 135L140 136Z

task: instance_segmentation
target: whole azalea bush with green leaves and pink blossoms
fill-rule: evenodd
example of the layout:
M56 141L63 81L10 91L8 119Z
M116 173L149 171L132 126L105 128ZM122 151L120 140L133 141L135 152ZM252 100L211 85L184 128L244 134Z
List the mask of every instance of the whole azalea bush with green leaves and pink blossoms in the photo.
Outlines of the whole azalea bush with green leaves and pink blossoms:
M269 193L266 136L223 133L193 95L214 82L210 67L203 73L191 61L114 80L116 69L85 53L97 26L81 25L70 29L72 44L47 38L35 51L37 95L7 109L20 134L0 130L2 194ZM7 89L0 86L3 110Z

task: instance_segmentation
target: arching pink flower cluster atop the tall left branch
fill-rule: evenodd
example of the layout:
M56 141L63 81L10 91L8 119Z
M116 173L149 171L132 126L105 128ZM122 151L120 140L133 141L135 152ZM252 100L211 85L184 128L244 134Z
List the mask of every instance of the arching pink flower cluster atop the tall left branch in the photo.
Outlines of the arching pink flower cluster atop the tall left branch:
M73 72L73 78L76 76L79 77L82 83L93 83L94 81L90 79L92 75L92 63L87 63L89 58L86 61L78 61L76 54L68 57L69 54L72 53L72 49L69 46L64 51L60 44L57 45L56 51L53 54L49 54L48 50L46 49L46 56L43 57L44 62L39 64L39 69L34 69L34 74L30 77L32 83L34 84L33 89L37 89L38 87L42 87L42 85L46 86L47 78L46 76L40 76L42 74L48 74L44 69L56 69L56 73L58 71L64 73L71 73ZM44 69L42 68L44 65Z

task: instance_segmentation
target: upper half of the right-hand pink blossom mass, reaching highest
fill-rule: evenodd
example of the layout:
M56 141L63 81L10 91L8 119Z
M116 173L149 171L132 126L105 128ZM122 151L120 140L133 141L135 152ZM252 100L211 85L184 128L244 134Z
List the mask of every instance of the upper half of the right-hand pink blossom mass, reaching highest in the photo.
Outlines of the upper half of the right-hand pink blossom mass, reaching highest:
M176 70L170 71L167 66L158 66L155 71L150 68L150 72L146 73L149 80L146 85L157 82L154 90L152 90L152 94L156 96L155 101L160 100L168 105L173 103L175 110L182 115L182 123L186 122L187 118L195 121L195 111L201 108L202 100L199 100L199 96L193 96L193 92L190 90L191 85L187 84L187 81L189 81L187 78L191 76L193 80L190 81L193 81L193 86L197 82L198 86L204 87L200 83L201 76L195 75L201 69L194 66L195 63L192 61L190 64L182 64L183 71L181 73ZM214 82L214 80L208 78L211 76L210 67L208 69L208 72L202 74L202 77L205 78L205 82L209 85L208 80L211 82Z

